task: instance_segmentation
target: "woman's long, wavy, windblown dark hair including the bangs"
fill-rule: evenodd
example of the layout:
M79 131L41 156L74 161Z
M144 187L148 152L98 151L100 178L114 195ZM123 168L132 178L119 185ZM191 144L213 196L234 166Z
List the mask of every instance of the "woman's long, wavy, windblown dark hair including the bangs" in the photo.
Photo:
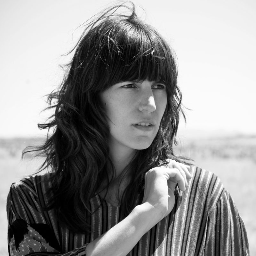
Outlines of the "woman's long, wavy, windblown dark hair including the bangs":
M120 8L130 14L120 14ZM52 197L45 209L54 208L71 230L90 232L84 217L90 212L89 200L103 181L107 180L108 188L116 178L109 158L108 121L99 93L121 81L148 79L167 86L167 107L155 139L149 148L138 150L125 168L132 178L120 199L124 216L138 203L138 193L139 203L142 200L145 172L167 157L178 162L185 159L175 156L172 148L177 145L179 114L184 113L173 53L155 28L137 17L132 2L94 17L73 50L59 90L48 96L48 108L54 108L55 114L47 123L38 124L40 129L48 129L47 140L23 155L39 152L37 156L46 156L39 172L51 168Z

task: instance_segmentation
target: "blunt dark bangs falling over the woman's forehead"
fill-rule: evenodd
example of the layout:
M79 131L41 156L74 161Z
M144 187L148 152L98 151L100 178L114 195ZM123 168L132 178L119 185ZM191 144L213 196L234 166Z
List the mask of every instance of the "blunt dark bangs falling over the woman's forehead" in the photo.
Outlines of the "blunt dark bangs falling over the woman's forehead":
M119 26L108 40L108 84L145 79L172 84L172 54L164 40L149 26L126 22Z

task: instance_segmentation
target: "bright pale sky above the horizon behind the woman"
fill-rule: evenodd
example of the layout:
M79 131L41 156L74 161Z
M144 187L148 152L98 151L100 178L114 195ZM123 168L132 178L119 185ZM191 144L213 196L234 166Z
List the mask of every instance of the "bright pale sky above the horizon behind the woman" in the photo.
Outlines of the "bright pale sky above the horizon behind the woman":
M179 131L255 134L256 2L133 2L177 55L178 85L190 109ZM62 79L58 65L69 60L61 55L77 42L78 27L113 3L1 1L0 138L46 134L37 123L49 115L41 111Z

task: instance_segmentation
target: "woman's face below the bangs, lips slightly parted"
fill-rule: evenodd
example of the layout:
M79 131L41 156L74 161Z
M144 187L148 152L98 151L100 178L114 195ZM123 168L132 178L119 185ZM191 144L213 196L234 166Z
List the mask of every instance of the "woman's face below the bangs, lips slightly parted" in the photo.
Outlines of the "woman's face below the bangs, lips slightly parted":
M110 147L134 150L151 145L167 104L164 84L121 82L100 93L100 100L109 118Z

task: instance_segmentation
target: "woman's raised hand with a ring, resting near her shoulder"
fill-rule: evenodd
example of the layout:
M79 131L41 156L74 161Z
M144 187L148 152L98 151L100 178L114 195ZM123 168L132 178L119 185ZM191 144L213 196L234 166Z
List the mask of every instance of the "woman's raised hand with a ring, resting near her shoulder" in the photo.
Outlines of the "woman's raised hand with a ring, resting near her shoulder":
M158 165L145 174L143 203L150 204L162 220L171 211L175 203L174 189L178 184L185 191L187 179L191 179L190 166L166 159L166 164Z

